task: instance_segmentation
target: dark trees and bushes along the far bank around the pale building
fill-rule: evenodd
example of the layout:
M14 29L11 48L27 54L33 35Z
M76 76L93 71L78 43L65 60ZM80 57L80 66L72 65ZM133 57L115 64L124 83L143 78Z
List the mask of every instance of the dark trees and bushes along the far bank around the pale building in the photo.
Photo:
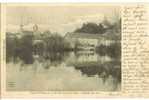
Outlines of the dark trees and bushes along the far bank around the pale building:
M105 27L106 25L106 27ZM114 43L111 45L99 45L95 47L95 52L99 55L108 55L114 59L121 59L121 36L120 36L121 20L117 23L111 24L108 21L102 23L85 23L81 28L76 29L74 32L80 34L106 34L110 32L107 37L111 38ZM83 32L83 33L82 33ZM78 52L80 44L75 43L74 47L71 47L70 41L65 37L60 36L58 33L51 33L45 31L40 35L36 35L38 32L22 31L20 33L6 33L6 61L17 61L21 59L25 64L31 64L34 61L33 55L39 55L45 59L49 59L51 54L58 56L65 52ZM18 37L17 34L23 34ZM35 35L34 35L35 34Z

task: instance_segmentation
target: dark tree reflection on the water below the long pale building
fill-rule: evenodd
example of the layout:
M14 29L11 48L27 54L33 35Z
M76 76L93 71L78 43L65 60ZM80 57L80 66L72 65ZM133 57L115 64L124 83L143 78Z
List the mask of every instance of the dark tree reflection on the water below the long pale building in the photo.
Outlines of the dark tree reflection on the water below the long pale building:
M117 83L121 81L121 68L120 62L106 62L104 64L99 64L97 62L89 63L78 63L74 64L75 69L80 70L82 74L86 74L89 77L98 75L100 78L103 79L103 81L106 81L106 79L111 75L113 78L116 79ZM118 67L116 67L118 66Z

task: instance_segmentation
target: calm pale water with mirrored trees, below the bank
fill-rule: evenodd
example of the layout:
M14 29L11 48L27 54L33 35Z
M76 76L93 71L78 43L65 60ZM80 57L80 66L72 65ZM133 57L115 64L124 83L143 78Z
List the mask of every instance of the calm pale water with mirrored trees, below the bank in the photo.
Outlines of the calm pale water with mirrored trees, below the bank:
M7 64L8 90L116 91L120 89L120 60L94 51L33 55L32 64ZM39 87L41 85L41 87Z

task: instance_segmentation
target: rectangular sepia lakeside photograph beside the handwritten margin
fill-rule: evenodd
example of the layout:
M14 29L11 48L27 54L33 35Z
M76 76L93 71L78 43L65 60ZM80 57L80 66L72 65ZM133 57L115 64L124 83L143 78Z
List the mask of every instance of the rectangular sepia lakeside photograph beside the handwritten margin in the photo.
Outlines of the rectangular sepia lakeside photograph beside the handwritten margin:
M7 91L121 91L118 5L6 6Z

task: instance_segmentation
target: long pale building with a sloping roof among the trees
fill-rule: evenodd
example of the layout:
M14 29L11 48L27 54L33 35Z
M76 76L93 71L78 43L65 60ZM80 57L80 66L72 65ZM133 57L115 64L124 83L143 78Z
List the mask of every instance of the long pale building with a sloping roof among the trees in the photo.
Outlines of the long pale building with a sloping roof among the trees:
M70 42L71 47L79 44L82 49L95 49L98 45L110 45L113 40L108 39L103 34L89 33L67 33L65 39Z

